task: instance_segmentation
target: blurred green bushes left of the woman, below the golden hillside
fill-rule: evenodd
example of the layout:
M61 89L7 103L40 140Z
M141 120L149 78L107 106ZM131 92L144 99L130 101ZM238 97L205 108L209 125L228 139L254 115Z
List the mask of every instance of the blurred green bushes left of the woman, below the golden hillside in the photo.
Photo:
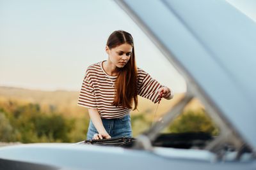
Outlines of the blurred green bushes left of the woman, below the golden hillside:
M61 113L43 113L38 104L13 106L13 111L0 108L0 139L21 143L82 140L88 121L86 118L67 118ZM83 122L83 124L81 124Z

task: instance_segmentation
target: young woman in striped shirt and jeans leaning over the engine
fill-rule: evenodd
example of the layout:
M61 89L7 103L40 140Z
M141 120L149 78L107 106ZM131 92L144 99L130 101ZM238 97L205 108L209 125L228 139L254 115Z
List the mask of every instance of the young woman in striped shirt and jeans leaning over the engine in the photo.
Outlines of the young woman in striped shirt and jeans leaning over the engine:
M88 108L88 139L132 137L130 111L138 95L157 103L172 99L173 92L136 66L131 34L114 31L106 44L108 60L90 65L79 94L78 105Z

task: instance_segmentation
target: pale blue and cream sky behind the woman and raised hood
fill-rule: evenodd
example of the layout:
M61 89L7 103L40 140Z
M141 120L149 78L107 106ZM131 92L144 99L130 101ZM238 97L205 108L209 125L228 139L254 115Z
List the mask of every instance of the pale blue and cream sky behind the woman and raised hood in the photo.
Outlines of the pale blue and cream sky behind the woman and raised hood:
M255 20L256 1L228 2ZM119 29L132 34L138 67L186 91L182 76L111 0L0 0L0 86L79 91L86 68L108 59L106 41Z

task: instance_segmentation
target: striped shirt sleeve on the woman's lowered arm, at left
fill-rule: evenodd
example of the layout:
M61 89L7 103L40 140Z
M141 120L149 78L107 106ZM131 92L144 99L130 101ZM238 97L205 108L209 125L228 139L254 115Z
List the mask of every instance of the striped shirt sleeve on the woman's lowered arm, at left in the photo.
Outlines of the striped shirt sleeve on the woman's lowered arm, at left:
M90 79L89 69L86 69L77 105L86 108L97 108L95 92L92 86L92 81Z

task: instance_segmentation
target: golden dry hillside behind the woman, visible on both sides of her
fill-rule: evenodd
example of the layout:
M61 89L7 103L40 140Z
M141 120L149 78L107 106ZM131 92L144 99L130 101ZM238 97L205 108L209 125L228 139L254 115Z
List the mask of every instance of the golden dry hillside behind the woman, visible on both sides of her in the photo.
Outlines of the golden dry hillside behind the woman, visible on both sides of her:
M62 113L67 117L83 117L87 114L87 109L77 106L79 92L75 91L43 91L43 90L29 90L15 87L0 87L0 106L8 104L10 101L18 104L38 103L40 108L45 113L56 111ZM172 100L162 99L157 109L157 115L163 115L170 110L184 94L175 94ZM143 97L138 97L138 110L132 111L132 114L153 114L156 110L157 104ZM193 100L189 104L189 108L196 109L202 105Z

